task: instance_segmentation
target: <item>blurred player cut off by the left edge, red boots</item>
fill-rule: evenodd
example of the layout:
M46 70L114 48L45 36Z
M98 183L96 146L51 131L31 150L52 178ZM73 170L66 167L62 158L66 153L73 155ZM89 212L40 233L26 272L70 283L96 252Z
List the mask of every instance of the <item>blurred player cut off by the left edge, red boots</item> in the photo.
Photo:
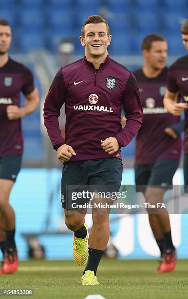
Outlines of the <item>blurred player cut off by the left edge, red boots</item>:
M8 55L11 36L9 23L0 19L0 248L4 256L1 274L12 274L18 268L15 212L9 195L21 166L21 118L35 111L39 103L31 71ZM19 107L21 91L26 98L23 107Z

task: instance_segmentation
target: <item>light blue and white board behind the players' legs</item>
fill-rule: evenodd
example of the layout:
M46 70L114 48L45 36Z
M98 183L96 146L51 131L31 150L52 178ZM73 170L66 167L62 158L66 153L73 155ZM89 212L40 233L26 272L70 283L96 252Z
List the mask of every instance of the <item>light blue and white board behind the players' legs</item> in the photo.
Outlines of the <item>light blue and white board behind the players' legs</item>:
M38 239L46 259L72 259L73 235L64 225L60 202L60 169L23 168L11 193L16 211L16 241L19 258L28 258L28 240ZM174 180L183 184L182 169ZM122 184L134 184L133 169L124 169ZM88 224L91 215L86 216ZM188 214L171 214L172 238L179 258L188 258ZM156 258L159 251L152 236L147 214L112 214L111 241L118 257L125 259Z

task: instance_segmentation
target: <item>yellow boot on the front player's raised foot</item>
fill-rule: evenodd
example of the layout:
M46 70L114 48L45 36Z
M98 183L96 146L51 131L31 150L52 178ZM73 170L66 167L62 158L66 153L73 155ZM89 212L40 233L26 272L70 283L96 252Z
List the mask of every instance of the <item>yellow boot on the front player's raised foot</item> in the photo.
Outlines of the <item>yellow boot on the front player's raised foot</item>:
M84 239L73 237L73 256L78 266L84 266L88 261L88 225L84 223L87 235Z

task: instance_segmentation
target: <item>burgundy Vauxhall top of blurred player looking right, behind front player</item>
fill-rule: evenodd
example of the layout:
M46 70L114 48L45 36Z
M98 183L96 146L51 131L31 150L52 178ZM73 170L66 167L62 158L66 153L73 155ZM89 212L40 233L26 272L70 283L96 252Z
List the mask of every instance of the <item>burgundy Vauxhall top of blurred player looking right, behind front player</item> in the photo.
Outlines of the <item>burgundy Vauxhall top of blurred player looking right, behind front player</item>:
M136 164L151 164L164 158L180 158L181 136L173 139L164 131L180 121L179 116L168 113L163 106L167 74L167 67L156 78L147 78L142 69L134 72L143 106L142 127L136 137Z

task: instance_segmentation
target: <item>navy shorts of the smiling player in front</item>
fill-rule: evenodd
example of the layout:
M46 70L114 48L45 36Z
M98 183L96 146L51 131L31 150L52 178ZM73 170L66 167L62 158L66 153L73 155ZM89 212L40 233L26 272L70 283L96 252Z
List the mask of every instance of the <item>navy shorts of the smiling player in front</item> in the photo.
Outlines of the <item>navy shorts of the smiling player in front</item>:
M61 179L61 202L64 209L68 209L67 192L83 189L97 192L118 192L121 186L123 164L120 159L88 160L81 163L64 164ZM67 185L72 185L67 186ZM84 187L89 185L89 187ZM69 188L69 191L68 191ZM75 190L74 190L75 191ZM80 200L82 200L80 198ZM89 201L89 200L88 200ZM85 200L84 202L87 202Z

